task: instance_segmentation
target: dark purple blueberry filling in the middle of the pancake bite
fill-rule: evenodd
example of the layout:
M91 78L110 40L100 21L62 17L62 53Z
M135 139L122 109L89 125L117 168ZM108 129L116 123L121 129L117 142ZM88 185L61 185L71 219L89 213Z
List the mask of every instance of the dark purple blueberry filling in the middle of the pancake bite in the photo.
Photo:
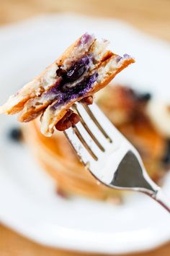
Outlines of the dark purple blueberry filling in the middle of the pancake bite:
M61 77L61 80L45 95L50 100L58 100L55 105L51 106L51 109L56 109L63 103L79 98L89 92L98 76L97 73L91 74L91 76L88 75L92 63L92 57L87 55L73 64L73 67L68 71L61 68L57 70L57 75Z

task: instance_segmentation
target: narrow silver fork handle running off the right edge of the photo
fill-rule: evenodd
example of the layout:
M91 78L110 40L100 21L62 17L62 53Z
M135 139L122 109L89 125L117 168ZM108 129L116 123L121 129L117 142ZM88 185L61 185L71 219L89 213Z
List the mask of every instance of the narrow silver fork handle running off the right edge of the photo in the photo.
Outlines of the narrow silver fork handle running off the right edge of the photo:
M164 195L161 188L156 190L156 192L148 193L144 192L145 194L152 197L156 202L158 202L164 209L166 209L170 213L170 200Z

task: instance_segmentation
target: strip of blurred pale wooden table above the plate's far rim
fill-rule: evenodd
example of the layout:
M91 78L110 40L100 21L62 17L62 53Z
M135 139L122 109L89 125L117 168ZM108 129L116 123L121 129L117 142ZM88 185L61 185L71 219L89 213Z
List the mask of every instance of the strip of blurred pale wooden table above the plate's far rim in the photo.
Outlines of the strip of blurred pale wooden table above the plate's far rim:
M170 40L169 0L1 0L0 3L1 25L19 22L37 14L75 12L125 20L147 33Z

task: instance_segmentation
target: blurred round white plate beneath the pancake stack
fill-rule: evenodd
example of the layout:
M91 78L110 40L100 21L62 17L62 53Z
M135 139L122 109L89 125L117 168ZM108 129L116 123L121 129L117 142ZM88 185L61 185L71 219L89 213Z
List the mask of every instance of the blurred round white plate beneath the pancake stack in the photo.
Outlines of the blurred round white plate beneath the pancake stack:
M115 52L135 56L136 64L117 81L169 100L168 43L116 20L65 14L1 27L0 103L85 31L108 38ZM42 244L86 252L134 252L169 241L168 213L144 195L133 194L122 206L58 197L27 148L8 140L14 123L15 116L0 116L0 221ZM170 177L164 190L170 197Z

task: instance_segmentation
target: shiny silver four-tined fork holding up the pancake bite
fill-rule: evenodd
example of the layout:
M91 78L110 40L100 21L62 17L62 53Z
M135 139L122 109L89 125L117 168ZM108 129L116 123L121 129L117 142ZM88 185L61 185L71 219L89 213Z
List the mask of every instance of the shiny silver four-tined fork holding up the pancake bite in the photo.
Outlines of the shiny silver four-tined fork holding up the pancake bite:
M91 174L108 187L143 192L170 213L170 200L148 176L138 151L99 107L76 103L72 109L81 121L64 134Z

